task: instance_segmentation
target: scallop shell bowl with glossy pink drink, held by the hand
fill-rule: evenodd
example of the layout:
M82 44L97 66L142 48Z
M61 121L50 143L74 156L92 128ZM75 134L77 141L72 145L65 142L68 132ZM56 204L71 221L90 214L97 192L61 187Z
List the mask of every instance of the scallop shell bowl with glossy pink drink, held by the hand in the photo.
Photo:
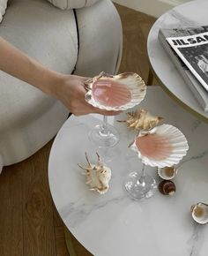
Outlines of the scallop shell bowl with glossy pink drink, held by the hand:
M100 75L85 81L85 101L95 108L106 110L131 109L145 98L146 86L137 73Z

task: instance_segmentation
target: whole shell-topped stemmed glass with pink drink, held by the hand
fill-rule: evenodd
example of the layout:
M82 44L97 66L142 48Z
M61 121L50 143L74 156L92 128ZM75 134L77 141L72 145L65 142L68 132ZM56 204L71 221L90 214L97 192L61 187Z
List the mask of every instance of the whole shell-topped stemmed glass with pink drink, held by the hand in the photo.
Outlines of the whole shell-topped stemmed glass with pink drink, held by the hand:
M123 73L116 76L101 72L97 77L85 83L86 102L93 107L120 111L133 108L145 98L145 82L135 73ZM108 117L97 124L89 133L90 139L98 147L114 147L119 139L119 132L108 124Z

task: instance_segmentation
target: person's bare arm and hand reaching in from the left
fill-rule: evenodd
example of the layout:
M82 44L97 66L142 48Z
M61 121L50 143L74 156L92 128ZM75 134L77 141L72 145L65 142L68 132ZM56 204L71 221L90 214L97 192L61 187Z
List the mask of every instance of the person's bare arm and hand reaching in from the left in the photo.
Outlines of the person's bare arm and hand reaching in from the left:
M85 102L84 82L86 78L51 71L1 37L0 70L59 99L76 116L89 113L100 113L102 115L118 113L93 108Z

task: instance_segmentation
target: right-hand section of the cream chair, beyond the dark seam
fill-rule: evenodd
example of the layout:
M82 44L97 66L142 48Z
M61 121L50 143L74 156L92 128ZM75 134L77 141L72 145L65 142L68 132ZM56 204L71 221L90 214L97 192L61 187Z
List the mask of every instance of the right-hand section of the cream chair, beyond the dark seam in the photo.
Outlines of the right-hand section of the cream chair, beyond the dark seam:
M63 11L64 12L64 11ZM122 23L110 0L77 10L79 27L78 75L117 73L123 51Z

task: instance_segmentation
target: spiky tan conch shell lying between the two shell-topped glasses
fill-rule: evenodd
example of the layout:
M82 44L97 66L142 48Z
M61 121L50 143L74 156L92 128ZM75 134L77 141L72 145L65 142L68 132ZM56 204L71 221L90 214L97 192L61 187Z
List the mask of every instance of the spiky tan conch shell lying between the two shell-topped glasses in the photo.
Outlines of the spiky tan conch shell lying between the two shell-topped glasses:
M159 124L163 117L155 117L146 109L137 109L136 111L127 113L128 118L124 121L129 128L134 130L148 131Z

